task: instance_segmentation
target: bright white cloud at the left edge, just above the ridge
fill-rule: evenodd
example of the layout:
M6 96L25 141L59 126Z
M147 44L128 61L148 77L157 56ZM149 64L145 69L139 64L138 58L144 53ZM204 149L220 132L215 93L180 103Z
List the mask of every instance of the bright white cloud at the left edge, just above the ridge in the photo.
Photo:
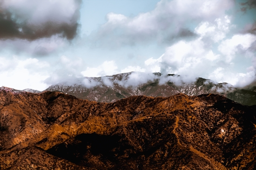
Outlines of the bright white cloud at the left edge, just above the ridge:
M49 64L47 62L40 62L36 58L27 58L25 60L12 58L0 58L0 84L19 90L25 88L34 88L37 90L44 90L47 84L43 81L47 78Z

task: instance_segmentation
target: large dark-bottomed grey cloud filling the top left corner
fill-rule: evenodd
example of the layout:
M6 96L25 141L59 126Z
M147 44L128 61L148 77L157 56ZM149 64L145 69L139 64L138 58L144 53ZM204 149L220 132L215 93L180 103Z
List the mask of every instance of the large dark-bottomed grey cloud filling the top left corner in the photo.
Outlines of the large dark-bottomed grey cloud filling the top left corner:
M35 9L29 8L30 10L27 12L29 3ZM61 9L63 6L58 8L58 3L52 3L48 0L34 3L33 0L25 0L23 4L12 4L7 0L2 1L0 4L0 39L35 40L49 38L56 34L67 39L73 39L79 28L81 0L71 0L68 3L73 5L74 9L64 13ZM42 12L39 13L37 8L40 8L39 10Z

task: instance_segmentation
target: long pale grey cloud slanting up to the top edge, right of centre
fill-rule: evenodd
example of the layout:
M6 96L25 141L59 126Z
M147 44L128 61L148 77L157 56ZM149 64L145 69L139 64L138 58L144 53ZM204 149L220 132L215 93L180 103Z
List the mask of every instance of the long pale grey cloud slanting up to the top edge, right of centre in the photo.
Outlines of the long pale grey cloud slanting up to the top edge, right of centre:
M151 40L170 43L179 38L195 38L191 24L218 22L216 18L225 16L225 11L233 5L233 0L161 0L153 11L133 18L108 13L107 22L89 38L93 46L108 48Z

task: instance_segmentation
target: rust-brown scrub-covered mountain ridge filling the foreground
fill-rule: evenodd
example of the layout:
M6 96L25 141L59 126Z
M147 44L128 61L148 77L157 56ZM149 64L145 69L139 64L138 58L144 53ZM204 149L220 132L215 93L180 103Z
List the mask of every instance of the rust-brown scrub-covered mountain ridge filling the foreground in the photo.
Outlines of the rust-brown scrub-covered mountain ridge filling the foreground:
M255 115L217 94L98 103L0 88L0 170L254 170Z

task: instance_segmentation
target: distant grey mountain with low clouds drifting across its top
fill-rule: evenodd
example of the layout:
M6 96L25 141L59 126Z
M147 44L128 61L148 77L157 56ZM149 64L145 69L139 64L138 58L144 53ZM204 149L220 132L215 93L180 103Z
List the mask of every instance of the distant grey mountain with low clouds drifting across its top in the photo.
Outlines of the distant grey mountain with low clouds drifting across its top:
M46 91L59 91L80 99L98 102L114 102L133 95L168 97L183 93L222 94L244 105L256 105L256 85L250 88L234 88L228 83L215 83L201 77L191 78L174 74L122 73L105 77L84 77L74 84L52 85Z

